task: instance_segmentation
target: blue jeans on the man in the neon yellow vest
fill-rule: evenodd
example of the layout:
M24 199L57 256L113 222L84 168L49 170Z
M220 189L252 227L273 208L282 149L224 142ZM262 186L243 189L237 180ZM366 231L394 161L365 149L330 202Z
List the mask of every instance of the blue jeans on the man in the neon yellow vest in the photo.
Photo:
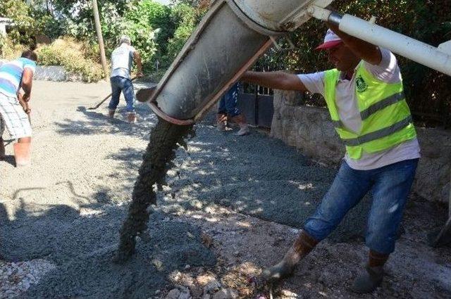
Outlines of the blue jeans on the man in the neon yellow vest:
M317 241L323 240L371 190L366 246L377 253L393 253L418 160L404 160L375 170L353 170L343 161L323 201L304 223L304 230Z

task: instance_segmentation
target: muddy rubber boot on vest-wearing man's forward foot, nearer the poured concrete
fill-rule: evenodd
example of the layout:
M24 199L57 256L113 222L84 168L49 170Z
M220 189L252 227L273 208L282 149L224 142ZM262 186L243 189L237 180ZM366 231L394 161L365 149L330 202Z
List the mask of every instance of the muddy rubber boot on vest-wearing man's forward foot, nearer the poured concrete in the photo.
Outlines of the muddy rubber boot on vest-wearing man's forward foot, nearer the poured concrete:
M297 237L295 243L290 247L283 260L273 267L264 269L261 276L265 281L279 281L292 274L295 265L299 260L310 253L311 250L318 244L314 238L302 231Z

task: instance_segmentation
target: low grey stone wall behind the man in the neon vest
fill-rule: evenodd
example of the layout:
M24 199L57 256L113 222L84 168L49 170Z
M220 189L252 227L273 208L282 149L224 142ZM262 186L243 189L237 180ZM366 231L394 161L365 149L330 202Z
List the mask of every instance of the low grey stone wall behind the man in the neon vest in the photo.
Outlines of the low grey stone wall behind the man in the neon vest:
M345 146L333 129L326 108L301 106L302 94L276 91L271 136L319 163L338 165ZM450 192L451 131L416 128L422 158L413 190L428 201L448 202Z

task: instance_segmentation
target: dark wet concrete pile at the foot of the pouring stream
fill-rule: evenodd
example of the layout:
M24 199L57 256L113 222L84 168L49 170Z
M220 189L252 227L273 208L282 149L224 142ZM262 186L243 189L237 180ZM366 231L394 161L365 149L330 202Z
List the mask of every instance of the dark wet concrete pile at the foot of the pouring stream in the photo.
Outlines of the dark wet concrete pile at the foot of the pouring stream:
M80 217L72 208L61 206L34 219L19 216L14 222L0 223L9 232L8 239L2 234L1 243L6 260L40 257L56 265L23 296L149 298L168 284L168 274L176 269L215 264L216 257L202 243L199 228L159 212L150 217L152 229L137 238L132 259L113 262L125 216L125 207L103 207L99 215Z

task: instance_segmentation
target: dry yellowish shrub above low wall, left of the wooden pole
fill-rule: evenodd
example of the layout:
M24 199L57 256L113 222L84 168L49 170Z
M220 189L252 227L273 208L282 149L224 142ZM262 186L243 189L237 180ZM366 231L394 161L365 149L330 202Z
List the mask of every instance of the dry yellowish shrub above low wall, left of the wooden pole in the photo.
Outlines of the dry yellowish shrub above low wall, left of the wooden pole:
M75 39L64 37L50 45L37 48L38 64L62 65L68 72L82 76L85 82L97 82L103 78L101 65L89 56L89 46Z

